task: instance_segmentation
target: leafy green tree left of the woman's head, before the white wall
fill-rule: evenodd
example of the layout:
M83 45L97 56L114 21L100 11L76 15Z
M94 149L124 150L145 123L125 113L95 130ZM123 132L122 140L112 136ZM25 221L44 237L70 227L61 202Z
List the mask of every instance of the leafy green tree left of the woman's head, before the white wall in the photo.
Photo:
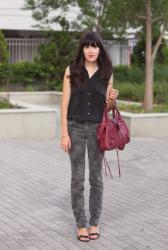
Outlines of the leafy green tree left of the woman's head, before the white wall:
M77 32L67 32L70 23L66 15L70 4L72 6L70 0L26 0L24 6L24 9L32 10L37 26L44 28L44 34L50 37L47 44L39 46L39 56L35 61L44 68L43 75L53 89L60 87L56 85L63 79L76 48L75 39L79 37ZM52 30L52 24L59 24L62 31Z

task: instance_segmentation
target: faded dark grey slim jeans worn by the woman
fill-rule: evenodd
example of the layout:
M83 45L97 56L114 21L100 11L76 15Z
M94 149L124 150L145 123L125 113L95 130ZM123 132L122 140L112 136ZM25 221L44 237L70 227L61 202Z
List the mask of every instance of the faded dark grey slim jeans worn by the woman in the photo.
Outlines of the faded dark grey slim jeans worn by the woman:
M84 210L85 151L87 146L89 160L89 211L91 226L97 226L102 211L103 177L102 161L104 153L100 151L96 128L98 123L68 121L71 138L69 150L71 162L71 205L78 228L86 227L87 220Z

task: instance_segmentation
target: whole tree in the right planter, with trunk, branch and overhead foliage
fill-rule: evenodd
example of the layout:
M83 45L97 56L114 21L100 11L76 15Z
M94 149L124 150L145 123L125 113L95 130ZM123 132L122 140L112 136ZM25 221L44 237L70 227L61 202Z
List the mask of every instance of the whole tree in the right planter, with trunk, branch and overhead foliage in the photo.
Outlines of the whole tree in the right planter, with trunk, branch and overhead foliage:
M95 22L97 30L113 31L113 33L121 35L129 27L135 29L145 27L144 109L152 111L154 61L168 26L168 1L77 0L77 2L86 15L84 20L88 23L92 22L92 25ZM97 6L99 7L96 12ZM86 21L85 23L87 23ZM152 30L155 26L159 27L159 36L152 46Z

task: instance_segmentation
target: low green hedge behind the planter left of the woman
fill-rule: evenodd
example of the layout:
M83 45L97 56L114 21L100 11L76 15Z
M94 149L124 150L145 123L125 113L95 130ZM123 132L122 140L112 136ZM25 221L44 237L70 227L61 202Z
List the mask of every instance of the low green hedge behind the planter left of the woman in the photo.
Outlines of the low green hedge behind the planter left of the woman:
M62 84L55 77L51 65L30 62L0 65L1 90L61 90ZM9 86L8 86L9 85Z

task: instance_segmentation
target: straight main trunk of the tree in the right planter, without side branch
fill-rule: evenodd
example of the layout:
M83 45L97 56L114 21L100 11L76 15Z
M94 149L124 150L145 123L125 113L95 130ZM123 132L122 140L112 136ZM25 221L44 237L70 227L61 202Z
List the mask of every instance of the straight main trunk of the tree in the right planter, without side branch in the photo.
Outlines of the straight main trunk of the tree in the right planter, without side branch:
M151 0L146 1L146 54L145 54L145 93L144 109L150 112L153 109L153 70L154 61L152 58L152 10Z

